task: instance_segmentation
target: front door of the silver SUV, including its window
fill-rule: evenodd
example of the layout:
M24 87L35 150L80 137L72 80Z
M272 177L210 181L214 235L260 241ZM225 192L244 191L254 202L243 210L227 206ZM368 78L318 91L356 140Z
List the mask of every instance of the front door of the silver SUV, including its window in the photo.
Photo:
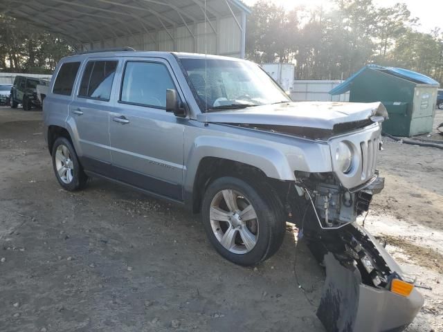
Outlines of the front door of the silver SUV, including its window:
M127 59L116 111L109 114L114 176L181 200L186 118L165 111L166 89L183 93L164 59Z

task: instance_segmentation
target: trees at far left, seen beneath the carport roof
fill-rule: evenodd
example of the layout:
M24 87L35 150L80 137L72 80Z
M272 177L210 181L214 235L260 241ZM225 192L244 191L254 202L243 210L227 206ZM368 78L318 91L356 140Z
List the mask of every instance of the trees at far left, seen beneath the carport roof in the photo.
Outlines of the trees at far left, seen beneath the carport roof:
M73 46L60 36L0 16L0 71L52 73L57 62L72 52Z

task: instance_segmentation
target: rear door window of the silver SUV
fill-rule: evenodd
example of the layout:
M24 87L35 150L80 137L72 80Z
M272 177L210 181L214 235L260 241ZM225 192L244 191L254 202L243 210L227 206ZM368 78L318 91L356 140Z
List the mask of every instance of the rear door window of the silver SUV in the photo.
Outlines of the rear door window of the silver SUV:
M80 83L79 97L109 100L117 61L90 61Z

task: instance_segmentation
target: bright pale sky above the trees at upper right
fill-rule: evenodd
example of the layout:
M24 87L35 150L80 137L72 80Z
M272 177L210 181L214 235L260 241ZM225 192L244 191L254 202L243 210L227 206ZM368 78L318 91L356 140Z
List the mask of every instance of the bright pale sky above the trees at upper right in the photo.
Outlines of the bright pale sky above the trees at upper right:
M329 0L272 0L284 8L291 9L294 6L320 6L329 7ZM257 0L243 0L246 5L252 6ZM424 33L439 27L443 30L443 1L442 0L373 0L376 6L392 6L397 2L406 3L411 17L418 17L421 26L417 27Z

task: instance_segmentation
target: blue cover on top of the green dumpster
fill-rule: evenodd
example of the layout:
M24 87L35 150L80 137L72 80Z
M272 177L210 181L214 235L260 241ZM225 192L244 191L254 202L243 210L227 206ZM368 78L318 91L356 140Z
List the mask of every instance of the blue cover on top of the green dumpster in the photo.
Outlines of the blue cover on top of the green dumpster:
M336 86L334 89L329 91L330 95L341 95L342 93L346 93L350 91L351 84L355 80L355 78L364 71L381 71L383 73L387 73L389 75L400 77L404 80L412 81L418 84L431 84L435 86L440 86L440 83L433 80L431 77L426 75L416 73L415 71L408 71L407 69L397 68L397 67L385 67L379 66L378 64L369 64L368 66L364 66L359 71L350 76L345 82Z

